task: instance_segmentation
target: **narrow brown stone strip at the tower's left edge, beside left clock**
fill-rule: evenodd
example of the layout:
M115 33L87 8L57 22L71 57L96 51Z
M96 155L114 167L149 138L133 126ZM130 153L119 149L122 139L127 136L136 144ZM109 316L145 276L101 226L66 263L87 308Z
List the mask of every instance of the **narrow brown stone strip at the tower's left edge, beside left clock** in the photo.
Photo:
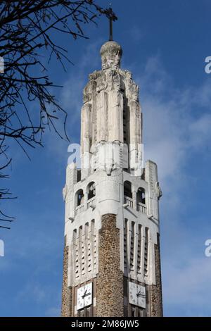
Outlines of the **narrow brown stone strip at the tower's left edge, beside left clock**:
M68 287L68 250L69 247L64 248L63 259L63 290L62 290L62 308L61 316L72 316L72 287Z

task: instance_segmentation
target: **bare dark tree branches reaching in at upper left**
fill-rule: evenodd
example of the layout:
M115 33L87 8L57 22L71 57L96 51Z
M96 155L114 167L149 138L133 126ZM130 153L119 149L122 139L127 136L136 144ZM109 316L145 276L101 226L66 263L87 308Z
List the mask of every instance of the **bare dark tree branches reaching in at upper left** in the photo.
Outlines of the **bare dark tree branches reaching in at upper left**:
M65 69L70 61L68 52L57 42L56 34L74 39L87 38L84 26L95 23L98 16L108 14L94 0L7 0L0 3L0 56L4 58L4 73L0 73L0 178L2 170L11 165L8 157L10 139L27 153L27 147L41 146L46 127L52 128L61 139L68 139L65 130L67 112L52 88L47 68L41 61L41 51L56 56ZM56 39L56 40L55 40ZM36 73L36 75L34 74ZM36 104L32 111L30 103ZM56 120L63 120L63 130ZM13 199L8 189L0 189L0 201ZM4 215L1 211L0 213ZM0 221L10 218L4 215Z

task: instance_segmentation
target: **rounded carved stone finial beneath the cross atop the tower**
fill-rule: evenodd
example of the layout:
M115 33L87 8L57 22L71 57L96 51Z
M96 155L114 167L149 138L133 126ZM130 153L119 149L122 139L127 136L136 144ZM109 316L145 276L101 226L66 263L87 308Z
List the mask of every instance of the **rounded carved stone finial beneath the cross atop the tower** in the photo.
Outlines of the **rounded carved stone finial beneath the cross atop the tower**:
M122 47L117 42L106 42L101 47L102 69L106 70L120 68Z

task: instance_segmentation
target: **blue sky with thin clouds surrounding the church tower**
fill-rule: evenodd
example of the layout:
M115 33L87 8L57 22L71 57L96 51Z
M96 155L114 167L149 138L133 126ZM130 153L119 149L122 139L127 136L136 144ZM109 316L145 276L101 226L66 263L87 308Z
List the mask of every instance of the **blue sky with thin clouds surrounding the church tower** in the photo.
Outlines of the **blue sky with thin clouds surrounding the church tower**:
M107 5L107 1L99 1ZM113 1L119 20L114 39L122 45L122 68L140 85L145 158L158 163L162 286L165 316L211 316L210 140L211 56L209 0ZM79 142L82 88L100 68L99 49L108 22L87 26L89 40L60 38L68 47L67 72L52 61L51 79L68 111L71 142ZM32 106L31 107L36 107ZM60 125L60 123L58 123ZM28 161L11 145L8 180L17 200L4 208L16 216L11 230L0 229L1 316L59 316L63 263L62 188L68 143L46 132L44 149Z

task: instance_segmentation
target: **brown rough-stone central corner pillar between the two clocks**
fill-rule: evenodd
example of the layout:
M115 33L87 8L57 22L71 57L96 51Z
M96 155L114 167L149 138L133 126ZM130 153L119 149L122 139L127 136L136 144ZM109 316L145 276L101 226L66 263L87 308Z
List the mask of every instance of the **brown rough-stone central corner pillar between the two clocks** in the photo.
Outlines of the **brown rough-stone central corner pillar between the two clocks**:
M120 230L116 216L102 216L99 233L99 269L96 280L96 316L123 315L123 273L120 270Z

